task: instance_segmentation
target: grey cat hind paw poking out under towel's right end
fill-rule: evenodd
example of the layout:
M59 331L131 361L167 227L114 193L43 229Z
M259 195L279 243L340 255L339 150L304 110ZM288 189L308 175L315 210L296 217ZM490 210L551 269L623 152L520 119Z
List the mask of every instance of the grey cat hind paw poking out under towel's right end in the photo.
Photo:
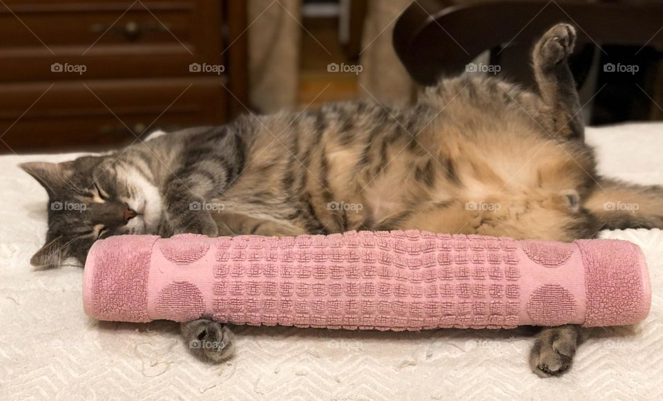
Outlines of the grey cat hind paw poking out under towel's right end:
M540 377L550 377L568 371L575 351L584 342L585 334L573 324L541 330L530 351L532 372Z

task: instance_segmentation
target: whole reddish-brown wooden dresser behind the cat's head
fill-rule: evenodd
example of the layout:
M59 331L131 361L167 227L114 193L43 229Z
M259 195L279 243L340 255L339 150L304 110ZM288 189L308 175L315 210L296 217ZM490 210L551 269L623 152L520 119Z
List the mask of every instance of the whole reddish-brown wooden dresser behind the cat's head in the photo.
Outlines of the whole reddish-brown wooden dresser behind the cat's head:
M104 149L245 111L244 1L3 3L1 153Z

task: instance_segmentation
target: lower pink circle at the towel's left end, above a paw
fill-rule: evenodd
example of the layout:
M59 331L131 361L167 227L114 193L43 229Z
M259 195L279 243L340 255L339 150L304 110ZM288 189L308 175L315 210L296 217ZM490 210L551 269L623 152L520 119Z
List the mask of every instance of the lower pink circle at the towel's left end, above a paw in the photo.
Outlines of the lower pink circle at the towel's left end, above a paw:
M197 286L189 281L175 281L159 292L155 309L164 319L189 321L202 316L205 304Z

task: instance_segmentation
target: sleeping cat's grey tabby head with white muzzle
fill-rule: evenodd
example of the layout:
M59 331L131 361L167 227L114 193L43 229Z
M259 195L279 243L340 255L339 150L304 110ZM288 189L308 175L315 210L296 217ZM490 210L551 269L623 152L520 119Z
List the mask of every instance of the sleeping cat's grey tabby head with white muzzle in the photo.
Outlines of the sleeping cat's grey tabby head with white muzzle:
M158 190L135 167L111 156L84 156L61 163L26 162L20 167L48 193L46 244L30 259L39 267L68 257L84 264L97 239L157 230Z

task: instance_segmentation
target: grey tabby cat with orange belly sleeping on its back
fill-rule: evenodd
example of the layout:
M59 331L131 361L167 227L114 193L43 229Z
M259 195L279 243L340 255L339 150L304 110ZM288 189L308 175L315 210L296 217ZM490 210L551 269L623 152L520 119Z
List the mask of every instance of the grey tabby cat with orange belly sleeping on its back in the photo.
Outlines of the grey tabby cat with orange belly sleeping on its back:
M568 68L575 39L567 24L539 39L537 91L461 75L426 88L406 109L328 104L160 132L104 156L25 163L51 205L46 245L31 263L84 263L94 241L117 234L418 229L573 241L605 228L663 227L662 188L596 172ZM63 203L79 207L52 207ZM191 349L203 360L231 355L224 324L198 319L182 324L182 334L187 344L212 344ZM543 328L532 371L567 371L584 336L573 325Z

